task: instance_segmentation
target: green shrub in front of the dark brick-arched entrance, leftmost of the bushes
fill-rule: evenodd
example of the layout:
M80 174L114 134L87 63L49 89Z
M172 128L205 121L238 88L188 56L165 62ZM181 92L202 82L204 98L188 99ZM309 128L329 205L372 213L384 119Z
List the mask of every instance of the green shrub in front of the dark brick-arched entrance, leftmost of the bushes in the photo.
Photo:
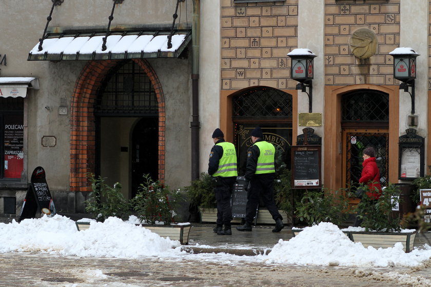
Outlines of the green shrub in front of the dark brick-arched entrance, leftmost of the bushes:
M94 215L97 221L105 221L109 216L123 218L130 214L129 205L121 193L121 184L116 182L113 187L105 183L106 178L87 174L91 183L90 194L85 204L85 210Z

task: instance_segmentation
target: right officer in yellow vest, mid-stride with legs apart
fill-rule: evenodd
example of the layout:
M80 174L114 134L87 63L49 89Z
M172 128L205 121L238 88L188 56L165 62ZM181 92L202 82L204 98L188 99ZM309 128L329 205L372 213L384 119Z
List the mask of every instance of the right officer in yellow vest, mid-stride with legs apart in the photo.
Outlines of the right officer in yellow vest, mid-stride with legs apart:
M253 145L247 151L247 165L244 176L246 180L244 186L247 190L245 223L243 226L237 227L237 230L251 231L251 222L256 216L259 197L262 196L266 208L272 215L272 219L276 221L276 227L272 232L280 232L284 228L283 217L273 199L276 148L270 142L263 140L260 127L251 132L251 141Z

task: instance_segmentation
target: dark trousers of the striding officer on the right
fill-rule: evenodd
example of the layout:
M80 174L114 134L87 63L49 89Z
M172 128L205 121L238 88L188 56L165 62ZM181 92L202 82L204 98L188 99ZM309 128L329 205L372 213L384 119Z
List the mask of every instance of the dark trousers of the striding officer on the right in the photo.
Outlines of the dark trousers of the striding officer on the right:
M250 223L253 222L254 216L256 216L256 210L259 206L260 197L262 197L266 208L272 215L272 219L283 220L283 217L278 211L276 202L273 198L274 189L274 174L257 174L254 175L250 180L250 190L247 194L247 204L245 206L245 221Z

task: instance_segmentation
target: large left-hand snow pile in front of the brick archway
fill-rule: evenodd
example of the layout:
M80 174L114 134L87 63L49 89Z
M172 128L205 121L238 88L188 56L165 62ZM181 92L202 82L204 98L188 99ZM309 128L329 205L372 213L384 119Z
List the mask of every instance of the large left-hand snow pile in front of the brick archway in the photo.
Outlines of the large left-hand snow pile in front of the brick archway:
M42 251L82 257L169 256L181 252L179 241L169 240L116 217L90 221L78 232L75 222L55 215L0 223L0 252Z

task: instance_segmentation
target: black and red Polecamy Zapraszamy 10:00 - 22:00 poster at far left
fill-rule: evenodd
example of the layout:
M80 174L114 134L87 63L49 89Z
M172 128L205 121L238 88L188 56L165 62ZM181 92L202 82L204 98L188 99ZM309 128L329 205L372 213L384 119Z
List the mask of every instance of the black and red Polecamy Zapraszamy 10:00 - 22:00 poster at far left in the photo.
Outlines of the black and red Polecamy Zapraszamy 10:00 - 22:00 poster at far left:
M4 176L21 178L24 163L24 125L22 115L9 115L5 118L4 129Z

